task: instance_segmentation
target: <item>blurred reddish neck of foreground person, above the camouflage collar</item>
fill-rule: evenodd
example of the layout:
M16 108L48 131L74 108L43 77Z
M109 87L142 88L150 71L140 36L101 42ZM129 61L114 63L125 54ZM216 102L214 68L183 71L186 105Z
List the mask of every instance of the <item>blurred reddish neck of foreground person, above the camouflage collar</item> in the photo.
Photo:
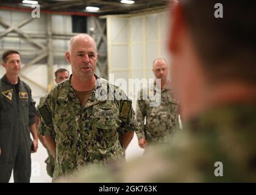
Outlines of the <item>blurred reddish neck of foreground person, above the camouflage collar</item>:
M203 91L203 90L202 90ZM184 119L191 119L214 107L230 104L250 104L256 102L256 88L243 83L222 83L207 88L194 103L184 108Z

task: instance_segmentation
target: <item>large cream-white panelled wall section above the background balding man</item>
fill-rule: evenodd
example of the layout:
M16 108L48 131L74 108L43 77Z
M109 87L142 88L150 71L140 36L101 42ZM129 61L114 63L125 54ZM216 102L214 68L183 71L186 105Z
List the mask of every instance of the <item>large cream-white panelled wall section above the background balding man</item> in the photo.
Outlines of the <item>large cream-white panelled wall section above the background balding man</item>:
M154 78L154 59L163 57L169 62L167 17L168 12L107 16L109 72L121 77L123 74L116 69L127 68L128 78Z

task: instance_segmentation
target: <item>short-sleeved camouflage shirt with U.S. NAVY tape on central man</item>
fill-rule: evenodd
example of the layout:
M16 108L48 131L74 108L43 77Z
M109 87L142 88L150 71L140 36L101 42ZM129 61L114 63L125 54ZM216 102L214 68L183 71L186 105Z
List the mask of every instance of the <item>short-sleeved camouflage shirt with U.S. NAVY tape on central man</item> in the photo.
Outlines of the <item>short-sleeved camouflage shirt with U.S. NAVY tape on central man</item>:
M138 129L130 100L100 99L112 92L125 98L118 87L96 77L97 85L83 108L71 87L71 76L52 88L39 108L38 132L55 137L54 179L87 163L124 160L121 137Z

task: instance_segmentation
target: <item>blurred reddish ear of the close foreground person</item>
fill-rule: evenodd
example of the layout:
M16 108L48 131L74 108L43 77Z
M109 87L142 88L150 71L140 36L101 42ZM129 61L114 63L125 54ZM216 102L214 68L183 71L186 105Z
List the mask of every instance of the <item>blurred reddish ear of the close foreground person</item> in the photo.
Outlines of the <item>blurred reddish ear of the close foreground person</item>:
M169 51L175 53L179 50L180 35L184 27L184 16L182 12L182 5L175 4L170 11L170 18L172 20L169 29Z

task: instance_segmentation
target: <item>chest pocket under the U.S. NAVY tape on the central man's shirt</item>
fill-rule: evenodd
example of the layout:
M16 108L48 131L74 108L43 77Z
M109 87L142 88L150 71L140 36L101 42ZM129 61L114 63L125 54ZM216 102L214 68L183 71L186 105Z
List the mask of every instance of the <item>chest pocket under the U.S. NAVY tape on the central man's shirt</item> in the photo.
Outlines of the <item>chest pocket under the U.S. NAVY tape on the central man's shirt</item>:
M93 109L93 141L99 148L112 147L119 141L118 128L121 125L119 112L115 107Z

